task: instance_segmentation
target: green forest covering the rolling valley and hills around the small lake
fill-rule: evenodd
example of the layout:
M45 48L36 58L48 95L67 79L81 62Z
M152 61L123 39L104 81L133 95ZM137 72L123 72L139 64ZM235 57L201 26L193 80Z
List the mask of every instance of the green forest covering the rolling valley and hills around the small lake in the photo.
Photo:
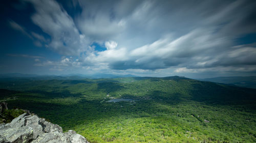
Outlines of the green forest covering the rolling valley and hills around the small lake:
M256 142L256 90L184 77L3 78L0 100L90 142ZM131 101L108 102L111 99Z

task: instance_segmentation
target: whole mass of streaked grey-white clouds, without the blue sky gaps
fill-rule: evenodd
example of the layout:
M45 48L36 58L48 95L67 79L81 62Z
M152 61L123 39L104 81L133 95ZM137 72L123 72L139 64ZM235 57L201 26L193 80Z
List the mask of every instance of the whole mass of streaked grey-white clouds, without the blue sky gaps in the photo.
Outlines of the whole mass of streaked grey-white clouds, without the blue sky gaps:
M255 1L74 0L68 8L79 7L76 14L69 14L63 2L26 2L35 9L31 20L51 41L40 34L32 36L60 54L78 56L72 64L63 64L70 62L68 58L54 65L97 70L256 71L255 46L236 42L256 32ZM22 27L16 28L23 32ZM93 50L94 42L106 50Z

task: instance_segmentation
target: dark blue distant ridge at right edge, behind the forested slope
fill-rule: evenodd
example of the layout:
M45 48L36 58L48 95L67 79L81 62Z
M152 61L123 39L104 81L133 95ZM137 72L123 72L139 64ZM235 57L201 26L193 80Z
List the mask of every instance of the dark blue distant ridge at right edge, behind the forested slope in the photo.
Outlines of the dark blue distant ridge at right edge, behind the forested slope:
M214 77L198 80L232 84L237 85L239 87L256 89L256 76Z

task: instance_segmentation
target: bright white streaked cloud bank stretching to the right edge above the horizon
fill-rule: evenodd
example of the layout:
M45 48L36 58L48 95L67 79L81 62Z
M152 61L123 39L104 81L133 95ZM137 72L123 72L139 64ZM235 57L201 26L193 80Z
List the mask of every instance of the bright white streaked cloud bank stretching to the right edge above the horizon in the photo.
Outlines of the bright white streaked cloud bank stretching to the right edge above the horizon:
M90 61L95 65L105 63L109 68L118 70L156 70L173 67L178 68L175 71L177 73L205 72L211 70L210 68L223 66L231 68L238 63L251 64L251 66L256 64L253 60L256 56L255 48L241 46L239 49L227 48L229 45L230 41L214 34L214 29L203 28L191 31L177 39L164 37L152 44L132 50L124 47L109 48L109 50L91 54L82 62Z

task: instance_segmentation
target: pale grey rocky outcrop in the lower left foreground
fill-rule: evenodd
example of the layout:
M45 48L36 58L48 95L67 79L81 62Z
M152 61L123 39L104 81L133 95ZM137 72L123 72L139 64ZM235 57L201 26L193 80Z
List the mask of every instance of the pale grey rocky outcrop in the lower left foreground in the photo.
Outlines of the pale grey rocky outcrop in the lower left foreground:
M63 133L60 126L36 115L30 115L28 112L13 119L11 123L0 124L0 143L5 142L89 143L75 131L69 130Z

